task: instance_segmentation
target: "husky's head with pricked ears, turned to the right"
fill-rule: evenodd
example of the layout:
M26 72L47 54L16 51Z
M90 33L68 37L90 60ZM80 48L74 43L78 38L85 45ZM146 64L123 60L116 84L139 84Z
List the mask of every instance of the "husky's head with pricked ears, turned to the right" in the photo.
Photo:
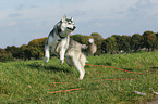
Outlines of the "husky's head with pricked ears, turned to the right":
M62 20L54 26L54 28L57 28L58 32L62 37L66 37L74 31L76 27L74 25L73 17L69 20L65 15L63 15Z

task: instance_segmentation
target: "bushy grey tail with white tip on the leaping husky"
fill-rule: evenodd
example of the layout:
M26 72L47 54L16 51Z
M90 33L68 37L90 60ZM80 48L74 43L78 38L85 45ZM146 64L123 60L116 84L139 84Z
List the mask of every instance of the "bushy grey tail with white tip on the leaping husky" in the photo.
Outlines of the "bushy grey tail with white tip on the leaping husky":
M97 46L95 44L94 39L90 38L87 48L85 48L83 52L88 55L93 55L96 51L97 51Z

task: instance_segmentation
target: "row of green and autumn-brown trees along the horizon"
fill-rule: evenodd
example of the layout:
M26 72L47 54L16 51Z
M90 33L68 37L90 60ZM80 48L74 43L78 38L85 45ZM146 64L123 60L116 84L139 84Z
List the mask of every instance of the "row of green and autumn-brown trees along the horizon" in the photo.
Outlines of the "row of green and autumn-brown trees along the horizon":
M98 32L93 32L90 36L77 34L70 37L83 44L88 44L88 39L94 38L97 44L97 55L131 53L142 50L156 51L158 49L158 32L154 31L145 31L143 35L134 34L133 36L112 35L107 39L104 39ZM21 47L8 46L5 49L0 49L0 62L42 58L46 40L47 38L34 39L28 44Z

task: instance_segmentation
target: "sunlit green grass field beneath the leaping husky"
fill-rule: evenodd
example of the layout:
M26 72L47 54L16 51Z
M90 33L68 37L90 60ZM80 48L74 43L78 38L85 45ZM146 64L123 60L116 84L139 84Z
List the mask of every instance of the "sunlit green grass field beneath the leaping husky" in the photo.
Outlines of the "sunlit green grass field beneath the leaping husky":
M156 96L150 88L158 92L158 52L88 56L87 60L88 64L145 75L85 66L85 77L80 81L78 72L66 63L59 65L58 58L51 58L46 65L42 60L0 63L0 104L139 104ZM80 89L64 92L76 88Z

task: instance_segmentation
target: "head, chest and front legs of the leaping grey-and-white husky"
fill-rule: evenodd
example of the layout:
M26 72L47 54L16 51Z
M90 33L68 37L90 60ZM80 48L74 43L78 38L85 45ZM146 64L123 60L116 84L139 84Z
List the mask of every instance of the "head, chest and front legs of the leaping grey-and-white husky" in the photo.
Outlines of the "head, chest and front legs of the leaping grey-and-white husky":
M63 15L62 20L53 26L53 29L50 31L48 39L45 43L45 58L44 62L47 63L49 61L49 49L51 48L51 52L56 54L56 46L59 41L62 40L64 47L60 50L60 61L59 63L62 64L64 62L64 53L69 42L69 35L74 31L76 27L74 26L73 17L71 20L66 18Z

